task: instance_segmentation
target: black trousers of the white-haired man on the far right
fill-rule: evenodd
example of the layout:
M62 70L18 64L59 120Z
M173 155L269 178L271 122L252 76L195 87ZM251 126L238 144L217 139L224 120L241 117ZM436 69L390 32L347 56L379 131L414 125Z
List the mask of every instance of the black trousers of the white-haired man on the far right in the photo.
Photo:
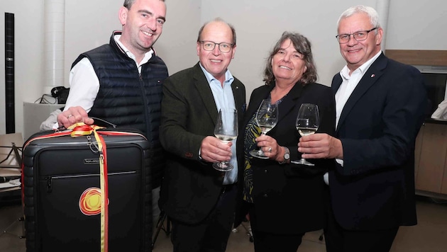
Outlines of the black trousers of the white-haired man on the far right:
M396 237L399 227L384 230L348 230L343 229L333 216L330 202L329 188L325 195L326 224L324 227L324 240L326 252L388 252Z

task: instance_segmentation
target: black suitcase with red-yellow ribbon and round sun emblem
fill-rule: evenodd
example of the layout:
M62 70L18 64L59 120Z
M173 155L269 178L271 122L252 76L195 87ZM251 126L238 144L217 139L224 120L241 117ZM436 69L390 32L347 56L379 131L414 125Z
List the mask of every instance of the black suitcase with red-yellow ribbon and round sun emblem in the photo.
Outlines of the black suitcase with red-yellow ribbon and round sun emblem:
M23 145L27 251L152 251L147 139L115 129L50 133Z

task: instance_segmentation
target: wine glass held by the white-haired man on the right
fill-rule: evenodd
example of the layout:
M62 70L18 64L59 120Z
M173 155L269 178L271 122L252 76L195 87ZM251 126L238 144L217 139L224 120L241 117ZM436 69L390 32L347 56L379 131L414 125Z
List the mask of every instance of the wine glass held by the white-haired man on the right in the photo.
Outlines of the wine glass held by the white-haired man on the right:
M316 104L303 103L299 107L297 122L295 126L297 127L298 133L304 137L309 134L314 134L320 125L320 115L318 112L318 106ZM299 159L299 161L290 161L293 164L304 164L307 166L314 166L306 159Z

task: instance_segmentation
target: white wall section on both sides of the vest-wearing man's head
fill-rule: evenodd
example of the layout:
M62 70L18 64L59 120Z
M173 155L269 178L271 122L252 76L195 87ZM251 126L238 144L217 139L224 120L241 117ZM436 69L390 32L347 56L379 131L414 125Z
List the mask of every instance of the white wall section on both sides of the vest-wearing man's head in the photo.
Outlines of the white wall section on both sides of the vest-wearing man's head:
M79 54L109 43L112 31L121 30L118 20L121 6L123 0L65 0L65 86L68 87L72 62ZM173 74L197 62L200 1L166 0L166 6L166 22L154 47Z

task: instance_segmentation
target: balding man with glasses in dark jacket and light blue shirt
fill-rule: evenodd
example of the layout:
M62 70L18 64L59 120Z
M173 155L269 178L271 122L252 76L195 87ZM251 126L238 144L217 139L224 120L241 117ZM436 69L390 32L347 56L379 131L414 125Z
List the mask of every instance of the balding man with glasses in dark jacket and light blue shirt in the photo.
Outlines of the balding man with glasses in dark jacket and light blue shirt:
M236 52L233 26L217 18L199 30L199 63L163 84L160 141L169 152L160 209L172 220L174 251L225 251L233 227L243 147L214 137L220 108L245 110L245 86L228 71ZM230 161L231 171L212 164Z

